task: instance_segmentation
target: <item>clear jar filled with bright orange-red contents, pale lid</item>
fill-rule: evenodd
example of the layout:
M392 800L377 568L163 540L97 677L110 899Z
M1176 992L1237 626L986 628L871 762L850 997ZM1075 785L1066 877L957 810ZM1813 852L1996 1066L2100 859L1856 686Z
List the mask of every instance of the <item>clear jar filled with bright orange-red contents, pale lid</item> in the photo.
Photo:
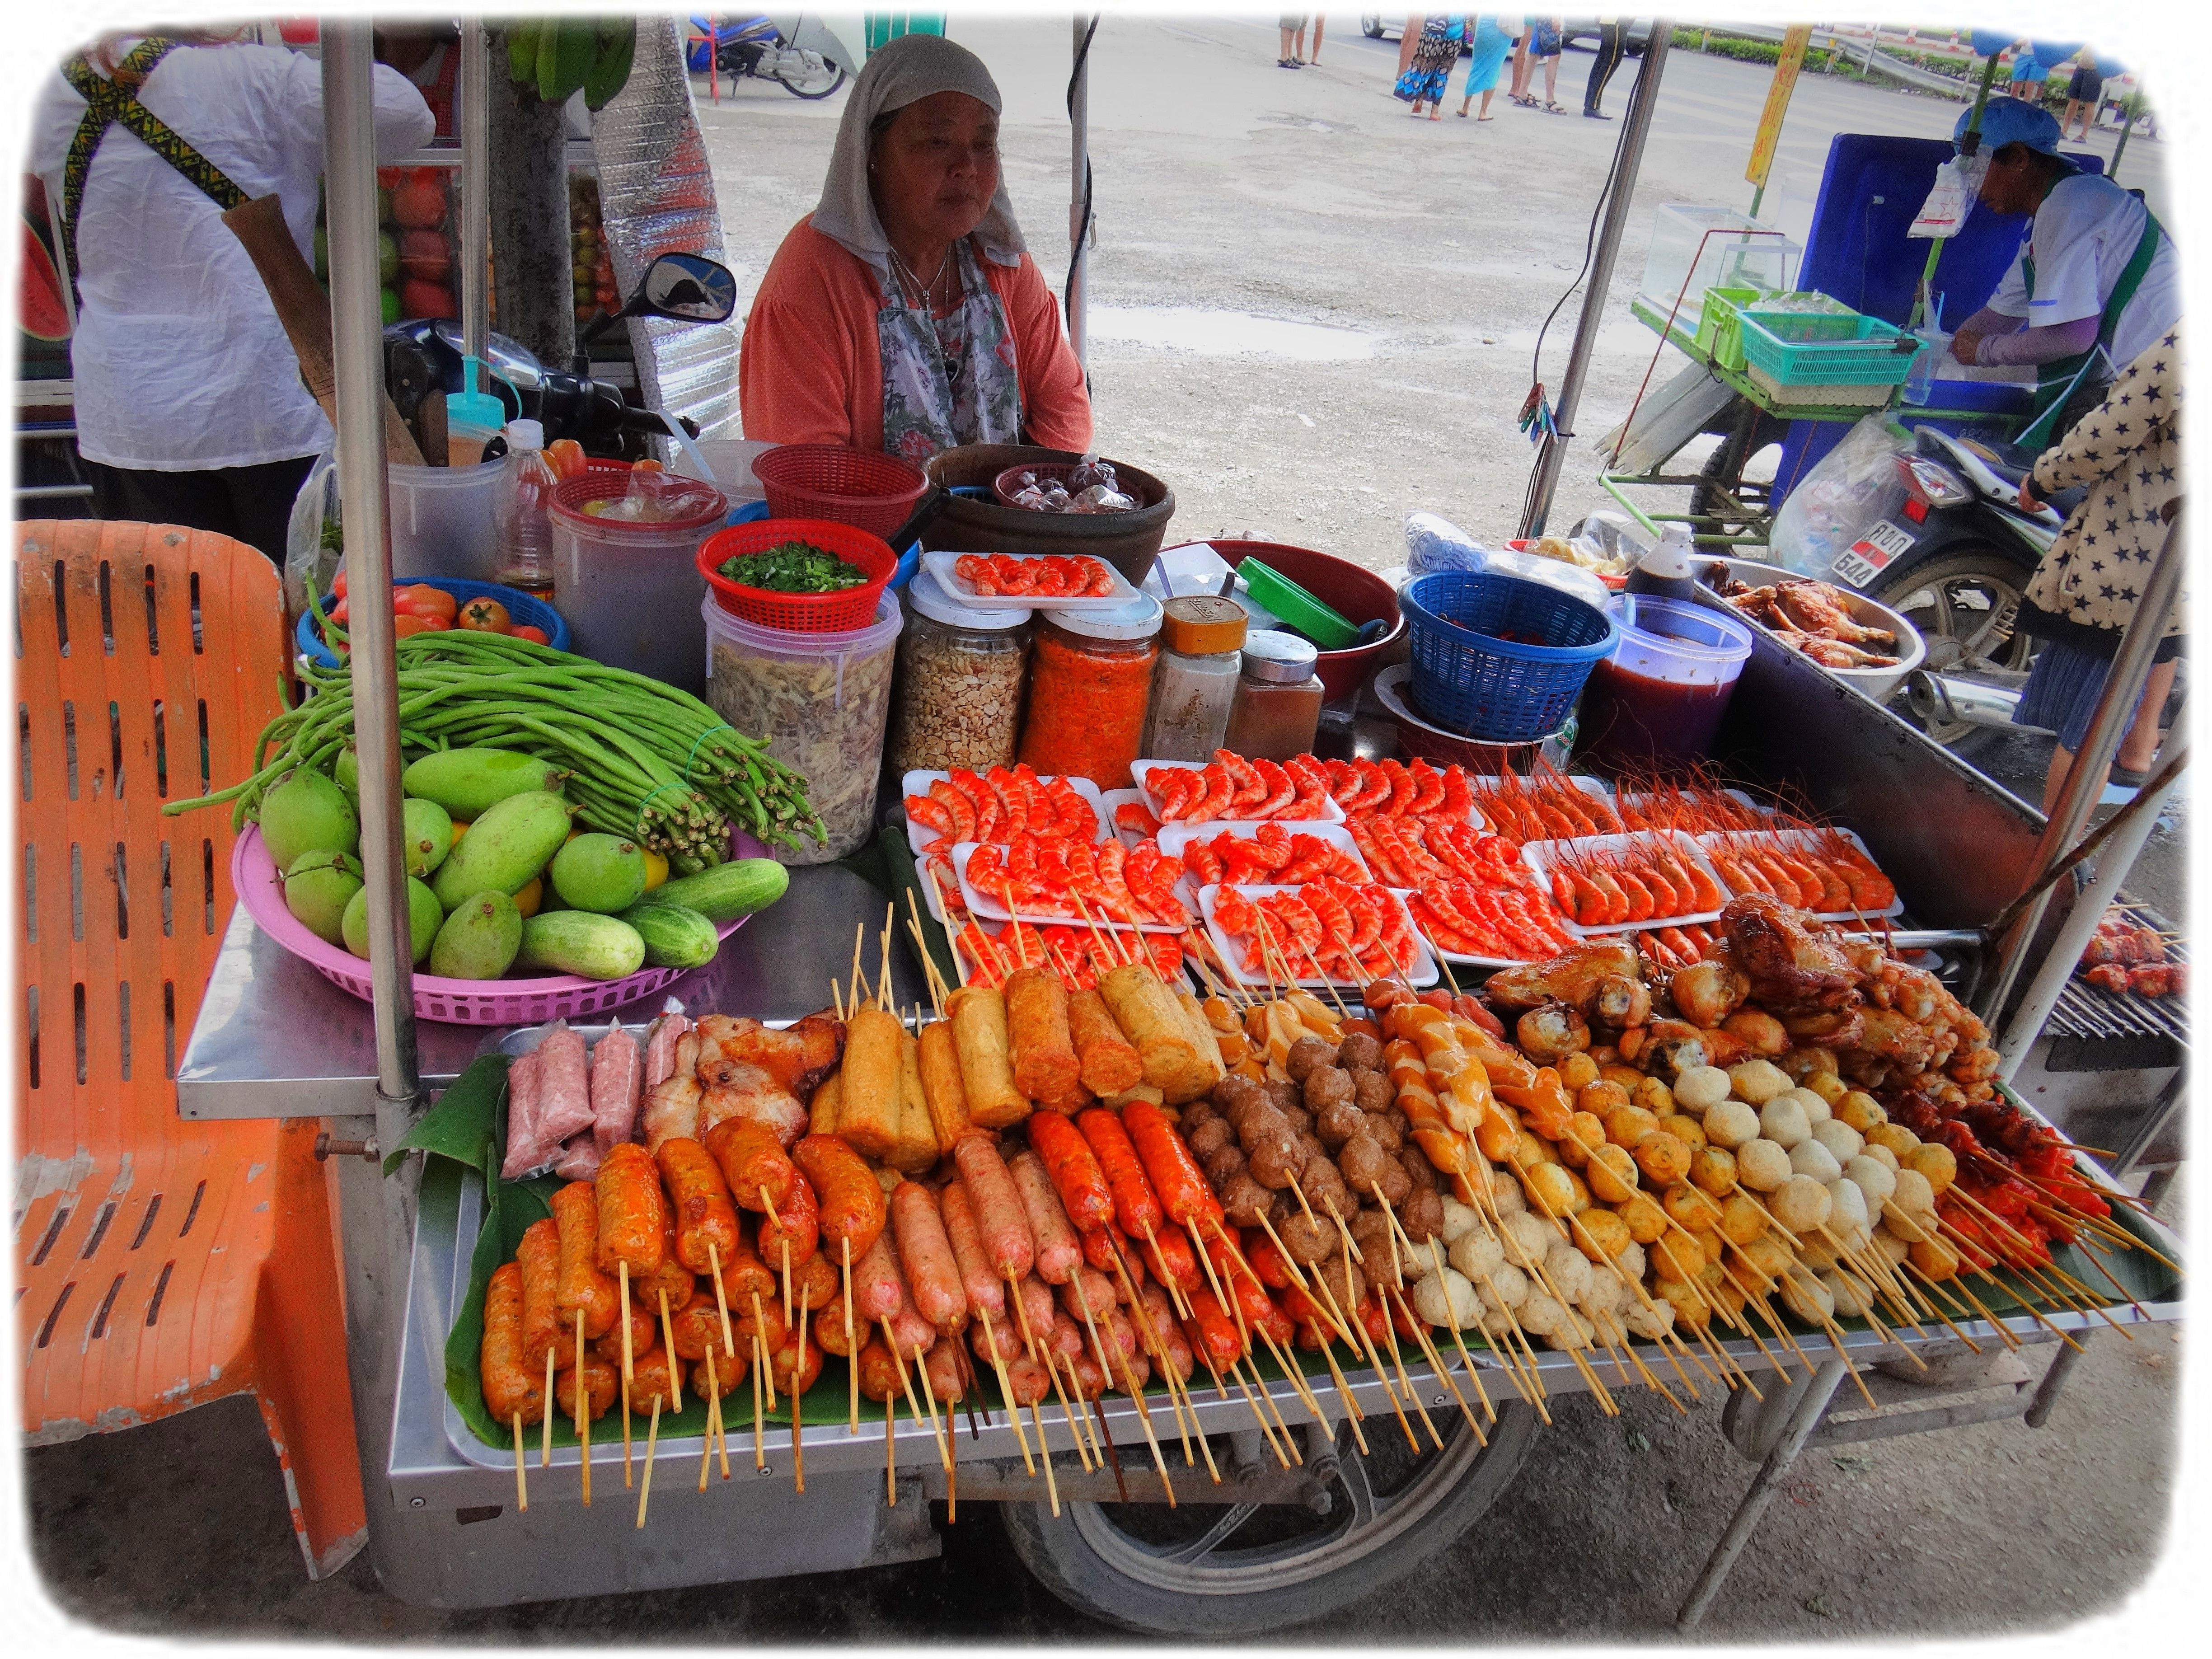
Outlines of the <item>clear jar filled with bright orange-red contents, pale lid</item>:
M1029 666L1022 761L1051 776L1126 790L1144 748L1144 712L1159 661L1159 599L1110 611L1040 611Z

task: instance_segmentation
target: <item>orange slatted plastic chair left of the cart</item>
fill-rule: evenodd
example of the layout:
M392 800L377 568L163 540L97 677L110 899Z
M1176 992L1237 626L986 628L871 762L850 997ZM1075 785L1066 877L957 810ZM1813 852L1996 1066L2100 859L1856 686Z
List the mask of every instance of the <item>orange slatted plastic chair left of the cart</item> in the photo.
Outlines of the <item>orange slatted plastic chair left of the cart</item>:
M31 1444L261 1407L307 1577L367 1540L316 1119L177 1117L230 925L230 814L283 710L276 568L175 524L15 533L22 655L15 1318Z

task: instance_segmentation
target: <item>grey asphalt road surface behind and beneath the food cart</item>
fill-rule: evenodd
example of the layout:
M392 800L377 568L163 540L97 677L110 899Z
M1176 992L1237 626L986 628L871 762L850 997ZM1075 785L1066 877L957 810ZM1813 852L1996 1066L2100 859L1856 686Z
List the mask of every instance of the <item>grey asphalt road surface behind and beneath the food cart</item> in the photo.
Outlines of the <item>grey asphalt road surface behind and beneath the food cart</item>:
M1009 186L1057 283L1068 31L956 33L1006 88ZM1586 64L1568 55L1562 102L1579 104ZM1332 33L1318 69L1279 71L1272 22L1115 20L1099 31L1099 431L1110 453L1172 480L1181 533L1276 535L1387 566L1413 507L1478 533L1511 531L1531 458L1513 411L1535 332L1575 276L1619 128L1502 100L1489 124L1416 124L1387 97L1394 69L1396 44ZM1606 100L1615 113L1632 71ZM1670 60L1584 431L1628 409L1650 363L1652 341L1626 314L1650 206L1747 204L1741 170L1763 91L1761 69ZM761 84L701 104L745 296L814 204L841 104L799 104ZM1829 135L1933 135L1951 115L1949 104L1801 82L1770 210L1803 232ZM2148 181L2154 204L2161 164L2161 146L2130 144L2128 177ZM1551 385L1573 314L1568 303L1544 347ZM1568 462L1562 520L1599 504L1588 471ZM1989 765L2033 799L2037 748L2006 745ZM2179 854L2172 865L2179 898ZM1975 1637L2117 1606L2166 1535L2179 1358L2177 1329L2135 1343L2106 1334L2044 1431L1982 1425L1805 1458L1705 1635ZM936 1562L438 1615L383 1595L365 1559L305 1584L248 1400L38 1449L24 1469L49 1593L113 1630L352 1641L1113 1635L1029 1582L984 1506L947 1528ZM1644 1391L1624 1398L1621 1418L1568 1400L1520 1480L1429 1568L1301 1635L1666 1637L1752 1473L1721 1440L1710 1391L1688 1416Z

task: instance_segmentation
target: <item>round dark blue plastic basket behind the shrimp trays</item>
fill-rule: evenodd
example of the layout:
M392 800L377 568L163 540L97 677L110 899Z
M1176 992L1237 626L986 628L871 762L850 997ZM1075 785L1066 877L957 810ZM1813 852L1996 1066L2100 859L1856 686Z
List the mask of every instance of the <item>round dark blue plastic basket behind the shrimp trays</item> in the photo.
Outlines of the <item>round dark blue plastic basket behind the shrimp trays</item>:
M1425 719L1484 743L1528 743L1559 730L1590 668L1619 644L1619 628L1595 604L1517 575L1433 571L1407 582L1398 604L1413 653L1413 703Z

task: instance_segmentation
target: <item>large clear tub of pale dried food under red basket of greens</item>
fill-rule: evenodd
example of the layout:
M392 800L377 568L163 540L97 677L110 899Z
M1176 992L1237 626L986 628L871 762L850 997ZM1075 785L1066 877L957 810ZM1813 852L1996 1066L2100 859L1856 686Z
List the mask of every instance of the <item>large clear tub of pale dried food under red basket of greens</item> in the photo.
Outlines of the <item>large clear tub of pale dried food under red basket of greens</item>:
M827 865L856 852L876 816L902 626L898 595L885 593L876 619L852 633L757 628L714 604L712 593L699 615L706 701L807 781L807 801L823 821L827 838L818 847L770 856L783 865Z

